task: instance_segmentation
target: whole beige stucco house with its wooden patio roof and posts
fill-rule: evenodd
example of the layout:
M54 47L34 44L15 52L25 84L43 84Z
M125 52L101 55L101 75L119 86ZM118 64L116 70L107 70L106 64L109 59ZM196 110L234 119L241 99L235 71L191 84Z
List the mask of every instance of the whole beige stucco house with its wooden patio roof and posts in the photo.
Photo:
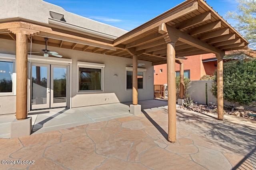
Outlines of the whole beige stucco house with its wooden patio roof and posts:
M184 75L177 57L216 55L222 120L225 51L248 46L204 0L186 0L128 32L43 0L0 6L0 114L16 113L11 137L30 135L34 109L132 101L130 113L141 113L138 100L154 98L153 66L167 63L168 140L175 142L175 63Z

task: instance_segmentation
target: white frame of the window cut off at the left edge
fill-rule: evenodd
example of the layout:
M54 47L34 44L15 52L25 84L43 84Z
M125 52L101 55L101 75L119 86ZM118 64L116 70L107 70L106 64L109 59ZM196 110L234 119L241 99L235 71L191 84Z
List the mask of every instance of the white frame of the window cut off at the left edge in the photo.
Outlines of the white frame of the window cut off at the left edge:
M0 96L15 96L16 95L16 58L13 55L0 55L1 62L12 63L12 92L0 92Z

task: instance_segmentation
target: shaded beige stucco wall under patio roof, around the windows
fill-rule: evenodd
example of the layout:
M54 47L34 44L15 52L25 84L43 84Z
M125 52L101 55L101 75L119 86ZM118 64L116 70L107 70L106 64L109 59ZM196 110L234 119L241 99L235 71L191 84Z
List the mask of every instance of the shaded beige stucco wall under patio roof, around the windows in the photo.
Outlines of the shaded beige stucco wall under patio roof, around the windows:
M0 53L15 54L15 41L3 40L0 41ZM4 47L4 48L2 48ZM28 43L28 49L30 44ZM32 44L33 51L41 51L44 45ZM71 65L71 104L72 107L91 106L98 104L109 104L117 102L132 101L132 90L126 90L126 64L131 64L132 59L101 55L96 53L88 53L70 49L60 49L57 47L48 47L51 51L56 51L63 58L72 59ZM29 50L28 50L29 51ZM39 53L42 56L42 54ZM28 61L30 61L28 55ZM42 57L43 58L43 57ZM78 67L77 62L89 62L105 64L104 68L104 91L103 92L77 92ZM147 100L154 98L154 75L153 66L150 62L138 61L144 63L143 68L146 68L145 73L145 90L138 90L138 100ZM117 77L114 76L117 74ZM8 98L8 100L7 100ZM12 110L6 111L10 106L15 106L15 96L6 97L0 96L0 114L14 113L15 107ZM1 110L2 109L2 110Z

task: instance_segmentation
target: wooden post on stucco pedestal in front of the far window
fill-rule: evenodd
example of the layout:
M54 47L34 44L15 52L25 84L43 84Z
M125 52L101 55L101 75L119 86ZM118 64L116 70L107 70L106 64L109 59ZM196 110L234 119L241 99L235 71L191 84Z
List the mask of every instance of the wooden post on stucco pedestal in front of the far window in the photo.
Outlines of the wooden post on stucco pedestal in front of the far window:
M132 56L132 104L138 104L138 56Z

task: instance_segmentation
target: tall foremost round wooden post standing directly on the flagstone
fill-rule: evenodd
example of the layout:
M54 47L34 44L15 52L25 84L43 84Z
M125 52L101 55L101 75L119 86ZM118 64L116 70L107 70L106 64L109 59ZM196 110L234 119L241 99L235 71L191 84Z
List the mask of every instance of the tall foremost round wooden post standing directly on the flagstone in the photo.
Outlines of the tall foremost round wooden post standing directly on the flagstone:
M168 141L176 142L175 43L167 43Z

